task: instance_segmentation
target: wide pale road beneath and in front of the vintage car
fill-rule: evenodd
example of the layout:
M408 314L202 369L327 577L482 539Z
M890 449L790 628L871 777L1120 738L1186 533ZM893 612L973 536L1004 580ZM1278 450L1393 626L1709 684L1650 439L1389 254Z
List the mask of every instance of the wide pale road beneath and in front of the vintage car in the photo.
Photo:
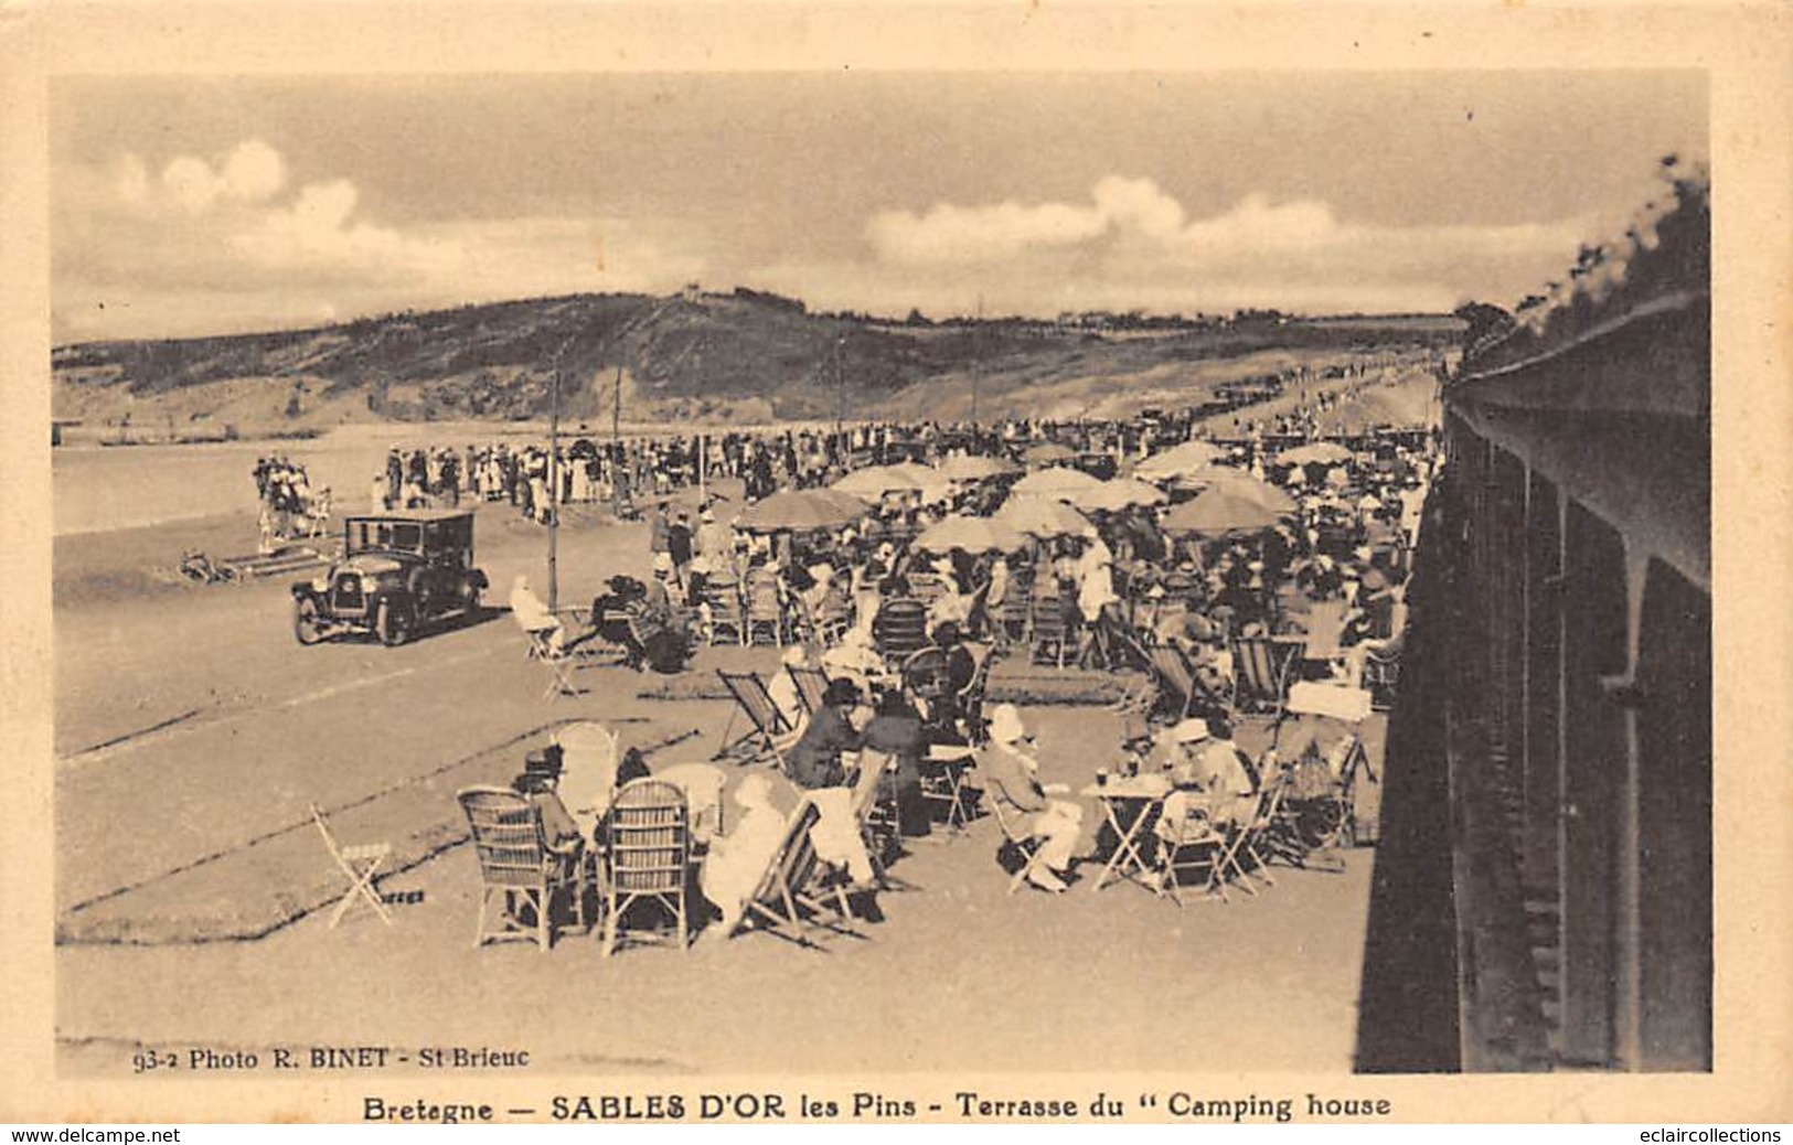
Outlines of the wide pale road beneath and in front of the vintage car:
M500 512L481 523L509 525ZM518 572L540 590L543 534L491 532L479 561L495 602ZM642 534L563 530L563 600L638 575ZM541 668L502 611L398 649L305 649L290 579L57 609L59 912L289 826L310 801L353 803L572 715L541 701Z

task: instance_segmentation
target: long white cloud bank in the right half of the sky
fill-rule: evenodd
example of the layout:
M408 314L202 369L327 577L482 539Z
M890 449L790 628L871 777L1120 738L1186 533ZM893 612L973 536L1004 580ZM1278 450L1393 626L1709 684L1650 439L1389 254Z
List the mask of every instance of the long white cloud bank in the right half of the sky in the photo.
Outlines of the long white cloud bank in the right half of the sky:
M868 299L992 308L1289 310L1449 308L1519 297L1572 258L1587 219L1513 226L1390 226L1341 219L1329 202L1252 194L1191 219L1153 179L1108 176L1087 202L936 202L866 222ZM773 269L801 288L803 267ZM814 267L830 296L853 294L841 267ZM950 299L950 301L948 301ZM1000 299L1000 301L999 301ZM925 306L925 301L918 301Z

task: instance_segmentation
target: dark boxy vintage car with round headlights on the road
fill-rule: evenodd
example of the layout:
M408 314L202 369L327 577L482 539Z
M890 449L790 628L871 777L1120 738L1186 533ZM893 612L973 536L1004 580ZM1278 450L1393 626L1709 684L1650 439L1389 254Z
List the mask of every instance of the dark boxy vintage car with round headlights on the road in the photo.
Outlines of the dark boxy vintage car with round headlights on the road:
M312 645L373 633L400 645L423 625L479 615L486 573L473 568L473 514L412 509L342 521L342 557L292 586L292 634Z

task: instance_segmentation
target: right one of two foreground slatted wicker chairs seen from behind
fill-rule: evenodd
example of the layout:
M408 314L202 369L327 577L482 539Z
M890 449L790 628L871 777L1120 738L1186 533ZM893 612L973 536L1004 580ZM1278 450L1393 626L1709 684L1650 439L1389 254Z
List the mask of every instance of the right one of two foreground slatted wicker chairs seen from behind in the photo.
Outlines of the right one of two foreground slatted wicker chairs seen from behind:
M645 934L690 948L690 812L685 792L660 779L635 779L617 790L601 828L604 840L604 946ZM626 925L631 908L653 905L671 916L665 926Z

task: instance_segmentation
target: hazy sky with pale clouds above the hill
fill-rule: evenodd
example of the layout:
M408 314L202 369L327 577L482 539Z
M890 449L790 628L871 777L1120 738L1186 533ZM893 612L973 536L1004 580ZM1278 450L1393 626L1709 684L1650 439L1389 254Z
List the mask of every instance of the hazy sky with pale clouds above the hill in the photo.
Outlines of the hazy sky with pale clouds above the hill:
M1705 147L1693 72L59 77L52 321L1511 305Z

